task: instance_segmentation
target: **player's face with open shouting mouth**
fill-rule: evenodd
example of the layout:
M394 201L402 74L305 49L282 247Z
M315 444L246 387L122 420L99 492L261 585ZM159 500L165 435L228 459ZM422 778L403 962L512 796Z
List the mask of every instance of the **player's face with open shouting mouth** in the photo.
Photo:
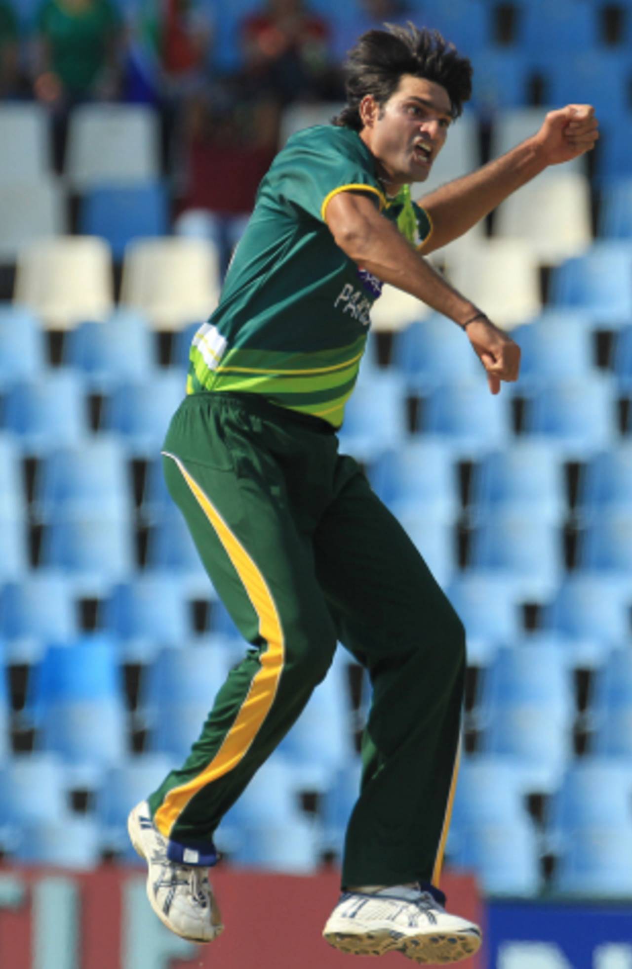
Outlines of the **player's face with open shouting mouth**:
M425 181L443 147L451 109L444 87L412 75L400 80L381 109L373 97L364 98L360 137L375 155L388 184Z

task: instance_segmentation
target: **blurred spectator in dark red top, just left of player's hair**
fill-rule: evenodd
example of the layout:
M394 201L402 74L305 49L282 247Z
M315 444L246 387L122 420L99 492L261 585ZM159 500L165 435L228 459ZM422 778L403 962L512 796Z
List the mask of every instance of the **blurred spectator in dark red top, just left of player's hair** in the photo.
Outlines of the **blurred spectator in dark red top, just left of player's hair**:
M282 105L327 98L332 87L330 30L302 0L268 0L242 23L244 72L252 93L266 90Z

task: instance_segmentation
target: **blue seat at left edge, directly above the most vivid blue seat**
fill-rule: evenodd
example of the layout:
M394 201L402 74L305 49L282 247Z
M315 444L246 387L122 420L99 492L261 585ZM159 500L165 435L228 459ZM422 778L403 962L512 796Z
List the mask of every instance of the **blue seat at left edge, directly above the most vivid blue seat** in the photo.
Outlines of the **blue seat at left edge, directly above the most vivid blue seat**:
M0 634L6 640L67 642L78 632L73 584L63 574L32 572L0 590Z

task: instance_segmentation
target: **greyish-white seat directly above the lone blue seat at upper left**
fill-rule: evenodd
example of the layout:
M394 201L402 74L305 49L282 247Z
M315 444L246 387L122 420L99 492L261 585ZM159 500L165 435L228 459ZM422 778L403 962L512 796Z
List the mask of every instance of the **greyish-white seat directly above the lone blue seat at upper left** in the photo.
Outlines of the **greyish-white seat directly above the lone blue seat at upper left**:
M76 192L101 184L155 182L160 125L146 105L79 105L68 126L65 175Z

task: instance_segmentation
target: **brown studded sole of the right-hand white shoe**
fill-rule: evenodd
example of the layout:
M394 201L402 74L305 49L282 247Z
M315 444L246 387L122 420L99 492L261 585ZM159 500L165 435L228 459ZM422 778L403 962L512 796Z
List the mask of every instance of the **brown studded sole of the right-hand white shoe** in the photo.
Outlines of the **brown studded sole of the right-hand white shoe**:
M403 953L420 964L446 965L459 962L477 953L481 936L475 932L435 932L432 935L408 935L393 929L374 929L370 932L322 933L330 946L351 955L383 955Z

